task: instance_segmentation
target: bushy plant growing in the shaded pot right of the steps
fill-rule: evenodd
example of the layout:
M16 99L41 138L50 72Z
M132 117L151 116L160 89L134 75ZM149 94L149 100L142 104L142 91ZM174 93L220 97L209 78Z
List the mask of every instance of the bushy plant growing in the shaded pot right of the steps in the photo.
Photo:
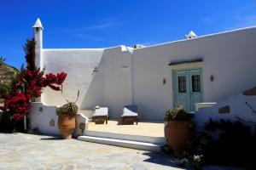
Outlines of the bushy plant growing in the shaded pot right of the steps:
M165 121L190 121L194 115L187 113L181 105L166 111Z

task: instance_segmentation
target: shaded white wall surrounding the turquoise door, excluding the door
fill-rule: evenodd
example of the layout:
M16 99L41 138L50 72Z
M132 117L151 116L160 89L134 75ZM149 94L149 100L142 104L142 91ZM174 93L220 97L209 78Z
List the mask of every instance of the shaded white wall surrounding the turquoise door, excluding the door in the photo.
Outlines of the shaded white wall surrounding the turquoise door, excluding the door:
M134 99L145 119L172 107L173 61L203 59L205 102L230 98L256 85L256 28L140 48L132 54ZM210 81L213 75L214 81ZM166 78L166 85L163 85Z

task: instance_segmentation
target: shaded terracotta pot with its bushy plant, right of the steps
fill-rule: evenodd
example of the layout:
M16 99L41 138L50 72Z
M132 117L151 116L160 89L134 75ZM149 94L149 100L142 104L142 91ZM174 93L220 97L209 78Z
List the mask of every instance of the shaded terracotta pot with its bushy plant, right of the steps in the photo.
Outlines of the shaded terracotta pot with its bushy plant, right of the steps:
M187 113L181 105L166 111L166 137L174 156L182 156L185 143L190 139L194 124L191 119L194 115Z

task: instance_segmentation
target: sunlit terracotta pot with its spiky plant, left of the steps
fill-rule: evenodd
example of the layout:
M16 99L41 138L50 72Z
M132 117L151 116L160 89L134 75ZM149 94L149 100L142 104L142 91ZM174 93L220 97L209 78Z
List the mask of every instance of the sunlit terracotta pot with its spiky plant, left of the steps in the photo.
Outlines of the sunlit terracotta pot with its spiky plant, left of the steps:
M62 94L62 86L61 86L61 94ZM63 96L63 94L62 94ZM64 99L66 99L63 96ZM70 102L66 99L67 104L63 105L56 110L56 114L58 115L58 127L61 131L63 139L71 139L72 133L76 127L75 117L79 111L78 105L76 105L78 97L74 102Z

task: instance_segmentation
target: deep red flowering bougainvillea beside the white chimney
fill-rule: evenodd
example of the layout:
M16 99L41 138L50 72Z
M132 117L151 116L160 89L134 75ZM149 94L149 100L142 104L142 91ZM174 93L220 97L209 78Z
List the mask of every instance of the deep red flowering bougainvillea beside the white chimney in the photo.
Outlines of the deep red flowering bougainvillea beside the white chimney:
M41 96L42 88L49 87L60 91L61 84L65 81L67 74L64 72L46 74L44 70L22 70L12 82L11 89L7 93L0 94L4 99L4 105L0 110L8 111L19 121L23 116L29 114L30 101Z

